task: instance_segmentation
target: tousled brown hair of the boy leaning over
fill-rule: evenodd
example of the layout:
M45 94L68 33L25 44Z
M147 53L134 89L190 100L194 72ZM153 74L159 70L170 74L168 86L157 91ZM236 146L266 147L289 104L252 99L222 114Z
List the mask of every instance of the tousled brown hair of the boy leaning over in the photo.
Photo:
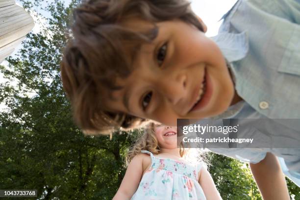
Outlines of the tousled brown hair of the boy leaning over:
M153 28L137 32L122 25L129 19L150 22ZM158 33L155 23L180 19L203 31L186 0L83 0L73 11L71 35L63 52L61 77L71 100L75 122L85 134L128 130L146 119L108 110L103 100L122 87L116 78L132 72L131 60L143 43Z

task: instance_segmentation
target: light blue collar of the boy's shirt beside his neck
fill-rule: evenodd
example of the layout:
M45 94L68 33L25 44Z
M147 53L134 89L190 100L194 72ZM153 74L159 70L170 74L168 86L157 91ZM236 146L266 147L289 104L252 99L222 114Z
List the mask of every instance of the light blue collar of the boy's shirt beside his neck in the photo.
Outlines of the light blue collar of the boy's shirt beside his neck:
M211 39L218 45L229 63L241 60L249 50L248 36L245 31L242 33L223 32Z

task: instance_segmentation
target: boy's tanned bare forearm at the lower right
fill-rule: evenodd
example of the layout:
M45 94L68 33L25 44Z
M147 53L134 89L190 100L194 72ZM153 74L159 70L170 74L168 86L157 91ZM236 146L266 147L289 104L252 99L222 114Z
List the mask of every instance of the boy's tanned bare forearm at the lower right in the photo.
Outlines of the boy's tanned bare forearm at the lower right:
M250 169L264 200L290 200L285 178L275 155L267 153L259 163L250 163Z

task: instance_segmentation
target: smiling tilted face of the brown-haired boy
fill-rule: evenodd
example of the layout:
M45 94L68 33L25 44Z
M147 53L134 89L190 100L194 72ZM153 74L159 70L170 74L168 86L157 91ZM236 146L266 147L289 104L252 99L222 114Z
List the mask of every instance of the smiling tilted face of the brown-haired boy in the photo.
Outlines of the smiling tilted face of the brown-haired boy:
M152 28L134 20L132 28ZM117 82L123 89L107 100L122 111L166 125L177 118L201 119L224 112L234 87L218 46L195 26L180 20L161 22L157 37L144 44L133 60L133 72Z

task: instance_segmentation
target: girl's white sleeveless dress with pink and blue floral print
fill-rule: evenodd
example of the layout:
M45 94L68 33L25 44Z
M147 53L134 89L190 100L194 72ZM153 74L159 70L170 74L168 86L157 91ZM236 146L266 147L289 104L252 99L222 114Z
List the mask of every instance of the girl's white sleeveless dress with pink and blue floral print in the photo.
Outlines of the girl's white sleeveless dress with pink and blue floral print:
M131 200L206 200L198 182L202 163L192 165L159 158L147 150L142 153L150 154L151 166Z

